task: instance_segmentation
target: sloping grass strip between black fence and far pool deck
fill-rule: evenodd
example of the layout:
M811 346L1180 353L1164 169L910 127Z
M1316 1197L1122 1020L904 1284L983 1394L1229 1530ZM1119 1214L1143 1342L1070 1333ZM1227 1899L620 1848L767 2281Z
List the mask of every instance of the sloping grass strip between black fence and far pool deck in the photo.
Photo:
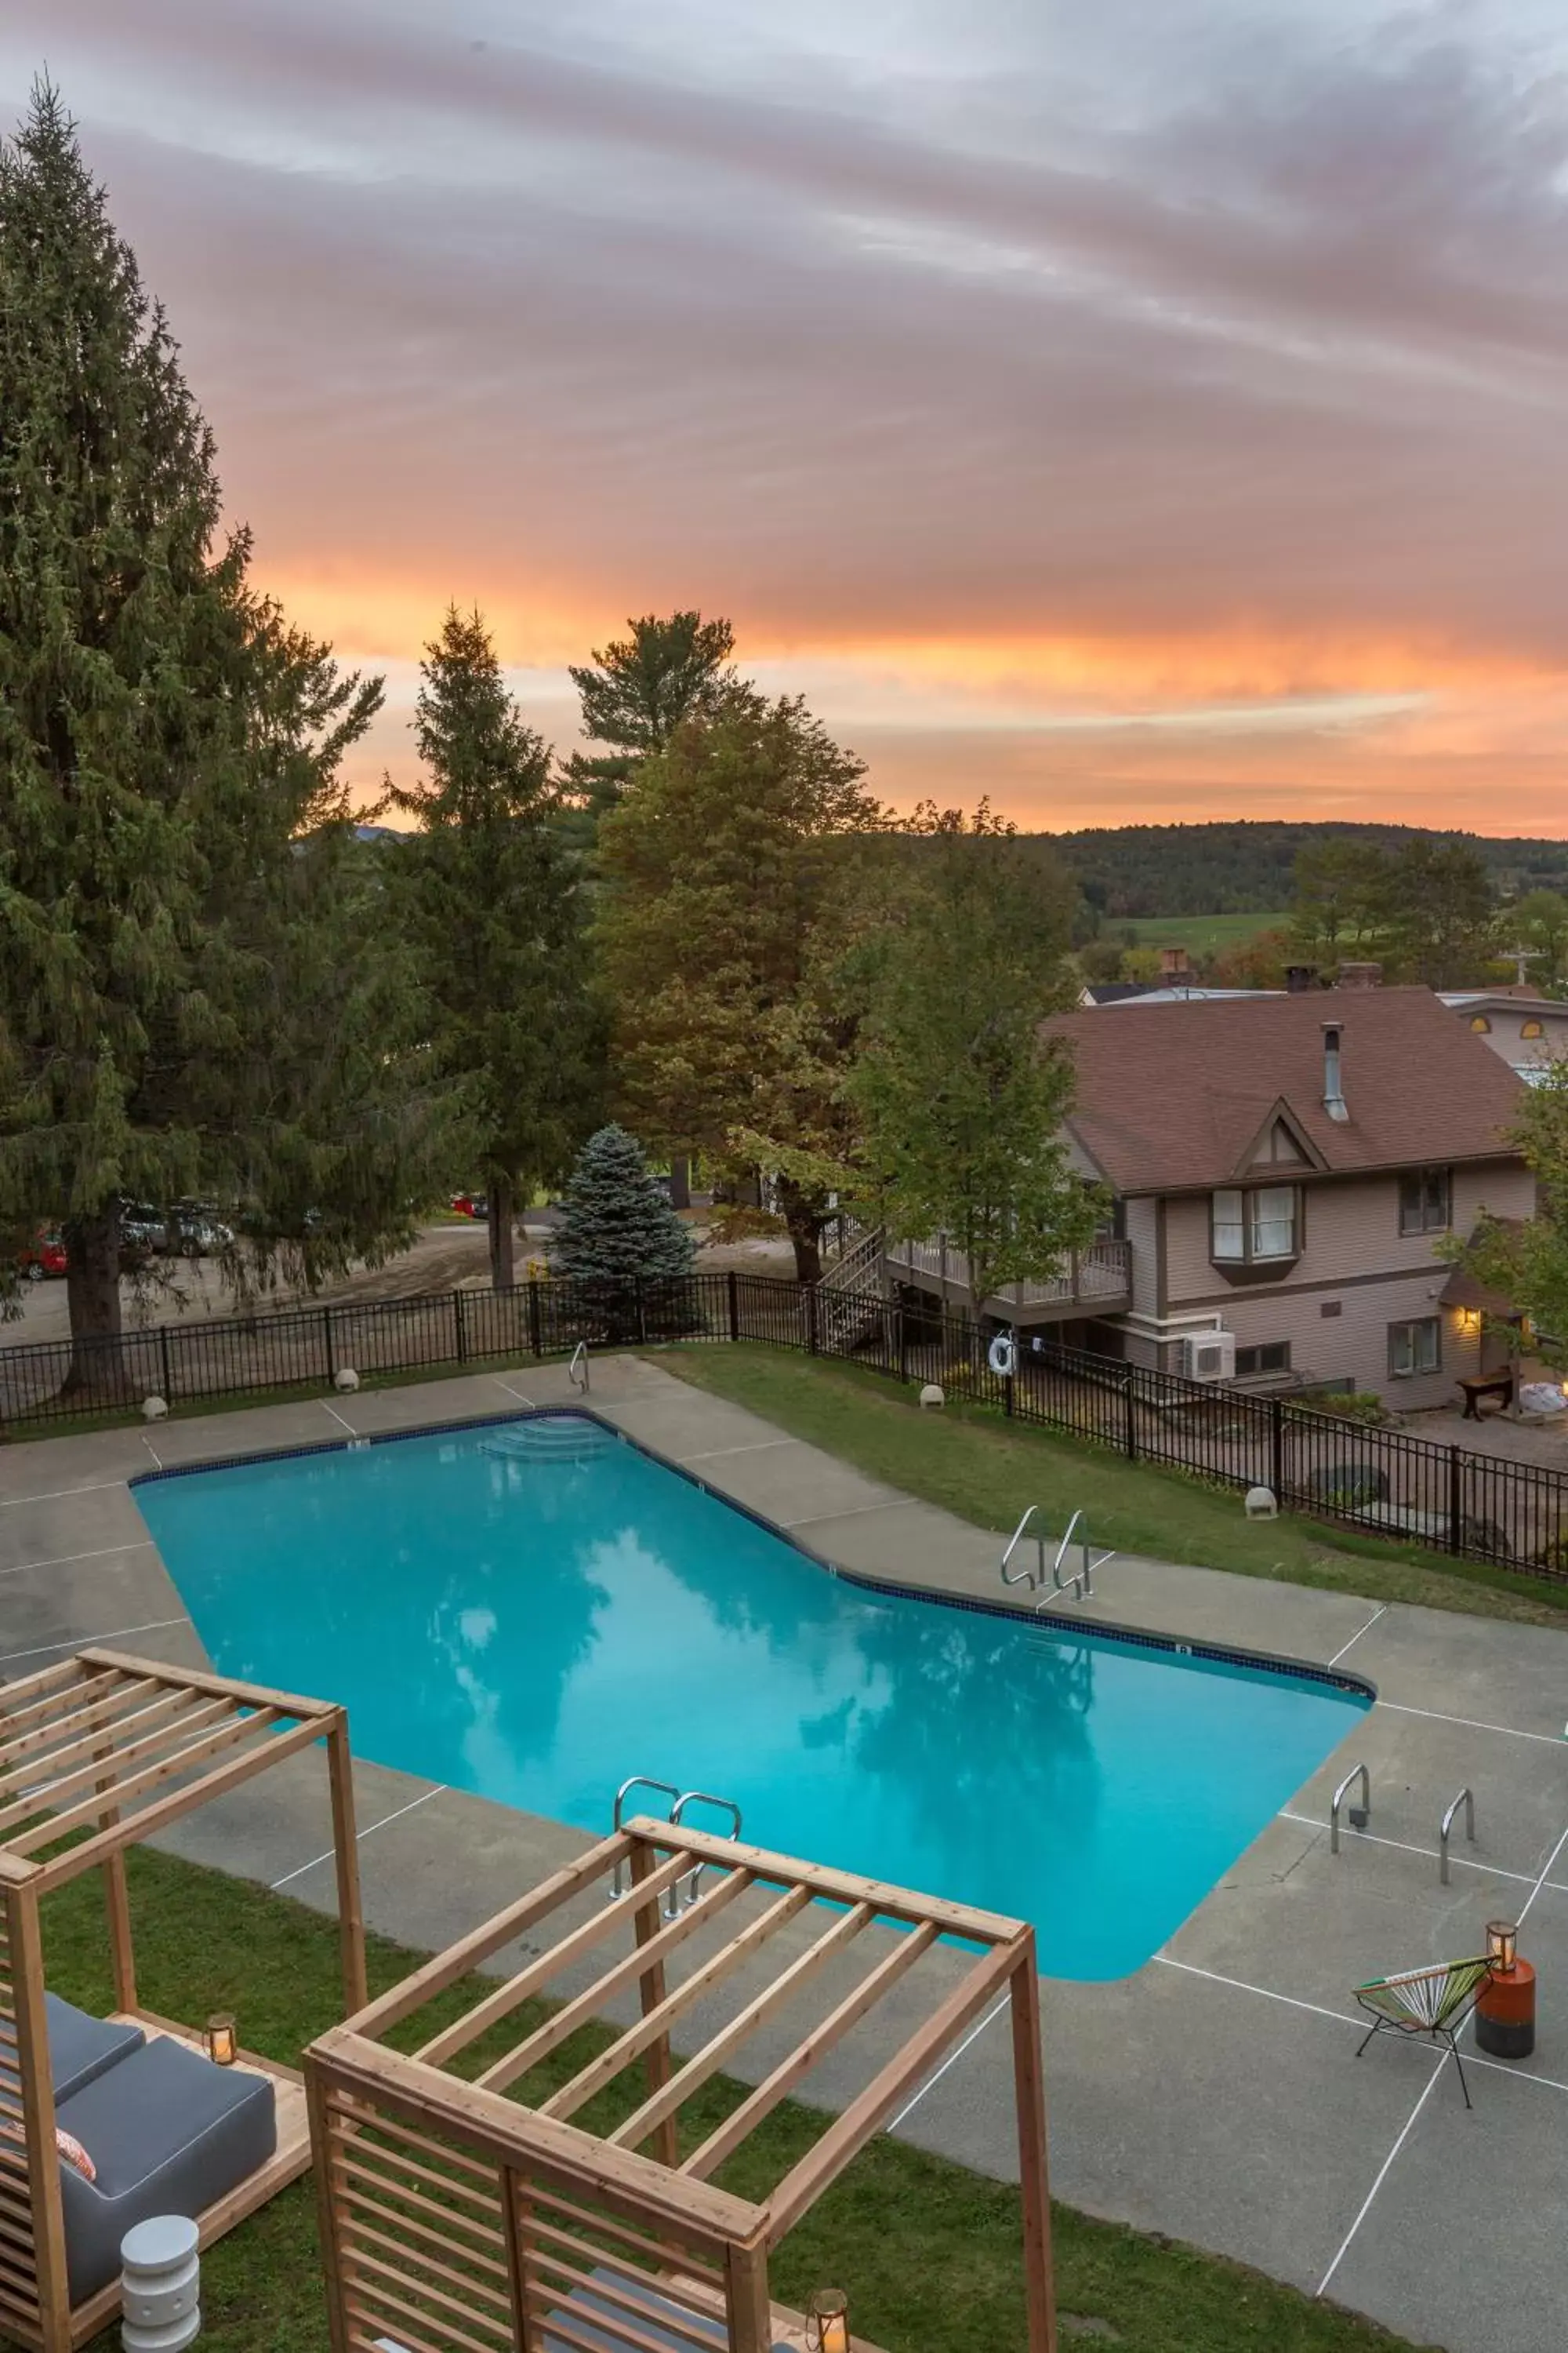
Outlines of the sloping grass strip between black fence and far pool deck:
M1246 1520L1234 1487L1128 1464L1084 1438L1020 1428L983 1405L950 1400L929 1414L912 1386L856 1365L745 1344L668 1348L658 1362L978 1527L1011 1532L1030 1504L1044 1504L1051 1522L1086 1508L1095 1541L1119 1553L1366 1593L1375 1602L1568 1624L1568 1586L1375 1537L1335 1529L1331 1541L1314 1520L1293 1513Z

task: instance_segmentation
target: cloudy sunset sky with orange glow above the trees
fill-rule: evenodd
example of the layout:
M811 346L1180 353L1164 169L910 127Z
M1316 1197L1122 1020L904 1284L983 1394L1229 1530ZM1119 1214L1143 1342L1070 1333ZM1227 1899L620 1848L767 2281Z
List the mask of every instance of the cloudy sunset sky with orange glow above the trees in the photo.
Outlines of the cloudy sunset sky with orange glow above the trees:
M0 0L259 574L729 612L893 800L1568 831L1561 0Z

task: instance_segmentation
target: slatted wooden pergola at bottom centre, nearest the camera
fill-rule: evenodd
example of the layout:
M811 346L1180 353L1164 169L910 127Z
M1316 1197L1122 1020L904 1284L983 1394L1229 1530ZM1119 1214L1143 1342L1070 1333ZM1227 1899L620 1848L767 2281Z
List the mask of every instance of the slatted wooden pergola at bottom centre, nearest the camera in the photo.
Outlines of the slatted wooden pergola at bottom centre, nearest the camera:
M538 1958L501 1984L473 1974L517 1939L536 1948L541 1922L555 1941ZM907 2026L922 1981L931 1998ZM458 1986L465 2007L454 2017ZM853 2028L865 2024L886 2052L896 1988L898 2047L823 2115L816 2144L766 2195L717 2188L719 2167ZM677 2061L672 2031L698 2002L705 2040ZM769 2064L780 2014L806 2002L813 2017ZM418 2045L390 2049L383 2038L402 2028L407 2045L407 2021L430 2005ZM802 2315L771 2304L769 2254L1001 2005L1027 2348L1056 2353L1034 1929L651 1819L595 1845L306 2052L334 2353L802 2346ZM571 2066L567 2045L607 2009L635 2019L611 2028L609 2045L585 2038L592 2052L578 2045ZM769 2047L748 2068L745 2045L764 2028ZM835 2068L846 2059L839 2052ZM684 2120L686 2101L736 2061L752 2089L717 2122L708 2094L708 2129ZM590 2101L597 2129L578 2120ZM853 2344L860 2353L858 2334Z

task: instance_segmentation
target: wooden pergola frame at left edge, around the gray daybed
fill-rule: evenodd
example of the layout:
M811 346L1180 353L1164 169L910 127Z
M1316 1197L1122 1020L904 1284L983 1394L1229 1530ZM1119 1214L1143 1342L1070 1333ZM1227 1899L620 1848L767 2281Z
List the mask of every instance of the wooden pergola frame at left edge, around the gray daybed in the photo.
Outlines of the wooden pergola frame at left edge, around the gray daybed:
M136 2000L125 1849L284 1758L327 1746L339 1880L343 2007L364 2005L364 1925L355 1847L348 1718L221 1675L113 1649L82 1649L0 1687L0 2332L40 2353L71 2353L113 2320L120 2282L71 2308L61 2160L45 2012L40 1904L85 1871L103 1873L118 2021L148 2038L202 2047ZM75 1840L61 1845L61 1840ZM240 2052L275 2085L277 2151L256 2174L193 2217L202 2245L221 2238L310 2167L303 2078Z

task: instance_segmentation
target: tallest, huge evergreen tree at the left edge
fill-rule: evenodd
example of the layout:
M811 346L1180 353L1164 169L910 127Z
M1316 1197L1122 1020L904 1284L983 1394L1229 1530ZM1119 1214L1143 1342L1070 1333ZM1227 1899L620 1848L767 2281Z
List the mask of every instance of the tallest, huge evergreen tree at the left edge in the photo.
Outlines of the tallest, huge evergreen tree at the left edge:
M0 1221L63 1224L78 1339L120 1329L122 1193L242 1198L263 1264L317 1271L407 1231L440 1127L393 944L350 948L336 769L381 685L254 593L219 511L38 85L0 141Z

